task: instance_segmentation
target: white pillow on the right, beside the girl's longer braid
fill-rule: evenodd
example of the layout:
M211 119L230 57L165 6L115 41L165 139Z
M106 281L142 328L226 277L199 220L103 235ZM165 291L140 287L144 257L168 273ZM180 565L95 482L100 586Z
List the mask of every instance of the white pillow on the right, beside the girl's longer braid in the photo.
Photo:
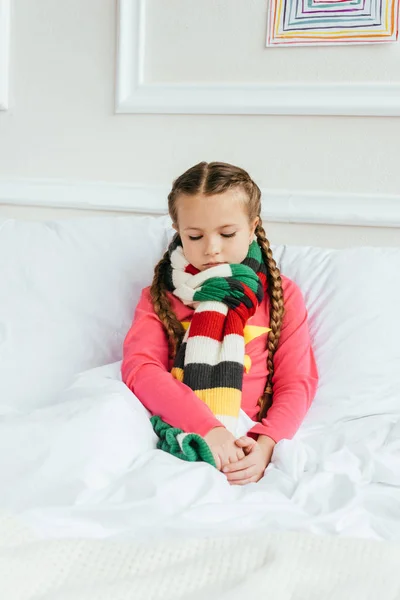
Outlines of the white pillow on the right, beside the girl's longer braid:
M320 383L308 424L400 413L400 248L278 247L309 311Z

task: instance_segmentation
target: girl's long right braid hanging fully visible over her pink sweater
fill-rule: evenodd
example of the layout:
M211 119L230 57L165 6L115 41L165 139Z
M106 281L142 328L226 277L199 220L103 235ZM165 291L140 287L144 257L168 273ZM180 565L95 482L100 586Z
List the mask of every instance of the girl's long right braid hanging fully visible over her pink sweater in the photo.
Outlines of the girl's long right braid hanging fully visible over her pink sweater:
M261 421L267 414L268 409L272 404L273 384L272 378L274 375L274 354L278 346L279 338L281 335L281 327L283 315L285 312L283 304L283 290L282 290L282 279L281 274L276 266L276 262L272 256L272 250L270 248L269 241L265 235L264 228L262 226L261 218L255 230L257 236L258 245L261 248L265 266L267 267L267 281L268 281L268 295L271 303L271 316L270 316L270 328L271 331L268 333L268 377L265 390L258 403L260 405L260 411L258 418Z

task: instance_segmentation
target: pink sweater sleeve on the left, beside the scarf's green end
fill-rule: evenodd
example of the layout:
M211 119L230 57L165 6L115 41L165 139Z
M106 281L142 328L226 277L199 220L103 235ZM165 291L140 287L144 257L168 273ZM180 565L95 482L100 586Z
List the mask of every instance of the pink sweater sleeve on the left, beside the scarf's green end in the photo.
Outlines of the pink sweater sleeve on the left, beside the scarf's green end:
M125 338L122 380L153 415L173 427L201 436L222 427L193 390L172 377L168 366L167 334L145 288Z

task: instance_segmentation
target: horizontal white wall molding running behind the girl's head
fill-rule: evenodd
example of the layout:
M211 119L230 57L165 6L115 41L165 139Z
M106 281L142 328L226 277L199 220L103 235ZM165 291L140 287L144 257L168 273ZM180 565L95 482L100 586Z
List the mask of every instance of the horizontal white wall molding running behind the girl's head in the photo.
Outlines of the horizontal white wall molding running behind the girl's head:
M168 186L0 177L0 205L165 214ZM281 223L400 227L400 195L262 189L263 218Z

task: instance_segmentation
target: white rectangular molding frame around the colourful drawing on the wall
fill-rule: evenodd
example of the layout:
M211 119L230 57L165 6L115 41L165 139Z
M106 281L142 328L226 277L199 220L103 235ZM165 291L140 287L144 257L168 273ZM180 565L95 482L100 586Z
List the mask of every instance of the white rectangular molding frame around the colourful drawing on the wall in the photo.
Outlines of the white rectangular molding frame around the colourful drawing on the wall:
M397 83L147 84L146 0L119 0L117 21L116 113L400 116Z

